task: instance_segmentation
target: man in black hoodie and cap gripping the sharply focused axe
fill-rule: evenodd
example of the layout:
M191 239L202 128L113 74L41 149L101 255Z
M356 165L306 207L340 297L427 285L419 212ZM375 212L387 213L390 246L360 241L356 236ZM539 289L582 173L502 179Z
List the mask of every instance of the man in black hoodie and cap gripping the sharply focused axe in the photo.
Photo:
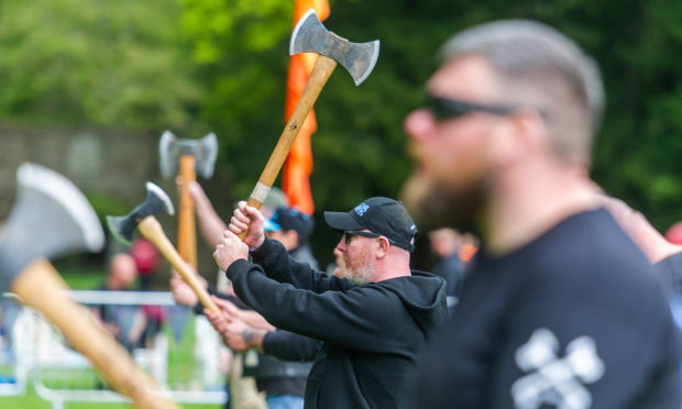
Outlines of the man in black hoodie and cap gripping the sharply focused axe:
M237 234L253 220L242 243ZM444 281L410 270L417 229L399 202L370 198L326 212L348 279L294 261L241 202L213 257L237 295L273 325L321 340L306 408L403 408L427 338L447 318ZM251 253L253 263L248 262Z

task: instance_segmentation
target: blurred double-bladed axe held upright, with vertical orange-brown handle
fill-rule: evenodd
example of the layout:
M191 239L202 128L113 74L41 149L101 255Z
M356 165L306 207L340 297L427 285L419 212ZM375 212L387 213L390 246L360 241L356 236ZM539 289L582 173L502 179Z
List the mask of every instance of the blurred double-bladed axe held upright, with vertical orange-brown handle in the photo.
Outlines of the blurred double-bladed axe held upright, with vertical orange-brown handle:
M178 211L177 251L187 263L197 268L197 233L194 202L189 195L189 184L197 173L205 179L213 176L218 139L209 133L200 140L179 140L170 131L165 131L158 141L161 174L165 178L178 174L182 179L180 206Z

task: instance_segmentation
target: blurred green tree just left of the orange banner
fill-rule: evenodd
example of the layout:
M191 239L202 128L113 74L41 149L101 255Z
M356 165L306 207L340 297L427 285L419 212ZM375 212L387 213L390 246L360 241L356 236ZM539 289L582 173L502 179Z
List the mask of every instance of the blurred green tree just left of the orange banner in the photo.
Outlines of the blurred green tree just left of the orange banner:
M234 198L251 192L284 118L293 1L179 0L183 32L207 95L199 111L220 139Z

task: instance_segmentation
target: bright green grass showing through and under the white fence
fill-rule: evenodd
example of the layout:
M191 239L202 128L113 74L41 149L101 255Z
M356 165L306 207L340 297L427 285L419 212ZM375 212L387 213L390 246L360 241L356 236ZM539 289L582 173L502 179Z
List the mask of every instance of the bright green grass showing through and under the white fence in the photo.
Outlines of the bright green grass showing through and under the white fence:
M65 280L73 289L95 289L102 281L101 275L66 275ZM176 342L173 338L172 331L168 325L164 327L164 332L169 339L169 356L168 356L168 385L172 388L180 388L182 385L191 384L193 375L196 375L197 368L194 365L193 346L194 346L194 320L188 320L183 338L179 342ZM2 373L3 371L0 371ZM53 383L50 378L50 371L43 372L43 384L53 387ZM94 388L96 383L101 379L98 375L95 375L91 371L80 371L80 379L76 382L78 389ZM73 380L73 379L69 379ZM29 384L31 384L31 376ZM61 388L58 383L54 383L54 388ZM218 409L222 408L222 405L182 405L187 409ZM0 408L2 409L52 409L53 406L50 401L43 400L32 389L31 386L23 396L3 397L0 396ZM132 404L92 404L92 402L65 402L64 409L131 409L134 408Z

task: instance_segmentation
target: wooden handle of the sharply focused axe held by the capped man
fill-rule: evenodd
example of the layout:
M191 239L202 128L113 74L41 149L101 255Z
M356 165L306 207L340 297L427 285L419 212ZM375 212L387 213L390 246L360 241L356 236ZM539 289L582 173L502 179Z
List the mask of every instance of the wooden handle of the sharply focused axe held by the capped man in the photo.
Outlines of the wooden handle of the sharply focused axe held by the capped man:
M289 121L284 128L284 132L282 132L275 150L272 155L270 155L270 159L267 159L267 164L258 178L258 183L251 192L249 206L260 209L261 204L265 201L270 188L275 183L279 169L282 169L282 165L284 165L284 161L286 161L292 145L294 145L294 141L296 141L296 136L298 136L298 132L308 117L308 112L310 112L317 97L320 95L320 91L324 87L324 84L327 84L334 68L337 68L337 62L333 58L329 58L321 54L318 55L312 73L310 73L310 77L308 78L308 84L306 84L306 89L304 89L304 93L300 96L296 109L294 109L294 113L292 113L292 118L289 118ZM249 226L251 226L251 222L249 222ZM248 233L249 228L244 230L239 237L243 241Z

